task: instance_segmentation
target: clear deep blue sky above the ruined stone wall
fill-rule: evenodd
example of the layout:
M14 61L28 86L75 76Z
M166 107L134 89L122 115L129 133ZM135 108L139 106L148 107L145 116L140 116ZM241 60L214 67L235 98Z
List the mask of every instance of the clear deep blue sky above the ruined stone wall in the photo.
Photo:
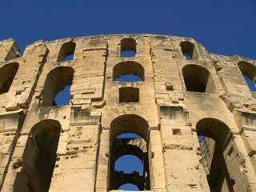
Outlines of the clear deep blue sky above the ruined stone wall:
M170 34L194 38L210 53L256 59L255 0L1 0L0 39L21 50L91 34Z

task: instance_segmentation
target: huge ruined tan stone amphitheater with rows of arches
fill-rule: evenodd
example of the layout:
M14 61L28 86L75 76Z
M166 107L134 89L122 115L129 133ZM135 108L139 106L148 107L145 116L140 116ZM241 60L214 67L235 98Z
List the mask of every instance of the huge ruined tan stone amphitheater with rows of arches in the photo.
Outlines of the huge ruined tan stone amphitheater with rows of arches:
M193 38L113 34L38 41L22 55L2 40L0 64L3 192L121 191L126 183L256 191L250 58L210 54ZM58 106L66 86L70 101ZM142 173L115 169L126 154L141 160Z

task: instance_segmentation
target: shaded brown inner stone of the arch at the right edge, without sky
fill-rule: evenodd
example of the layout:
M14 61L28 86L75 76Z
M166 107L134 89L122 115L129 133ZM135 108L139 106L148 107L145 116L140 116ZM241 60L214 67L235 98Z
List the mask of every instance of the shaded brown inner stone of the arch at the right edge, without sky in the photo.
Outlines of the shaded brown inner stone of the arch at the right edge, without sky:
M256 87L256 66L250 64L249 62L238 62L238 67L241 70L242 74L245 75L247 78L250 78L250 81L254 84L254 87Z

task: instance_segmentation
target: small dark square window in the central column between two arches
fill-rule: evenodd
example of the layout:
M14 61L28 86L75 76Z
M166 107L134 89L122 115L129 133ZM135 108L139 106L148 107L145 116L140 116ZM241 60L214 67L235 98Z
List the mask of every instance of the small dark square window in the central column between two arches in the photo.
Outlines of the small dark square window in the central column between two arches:
M119 89L119 102L139 102L139 90L133 87Z

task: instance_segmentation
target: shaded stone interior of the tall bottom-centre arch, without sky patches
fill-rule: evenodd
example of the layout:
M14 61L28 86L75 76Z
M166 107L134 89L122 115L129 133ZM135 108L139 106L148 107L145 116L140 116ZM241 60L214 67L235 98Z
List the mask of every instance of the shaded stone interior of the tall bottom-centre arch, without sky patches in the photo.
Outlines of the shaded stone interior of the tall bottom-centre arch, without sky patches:
M110 124L110 190L118 190L126 183L138 186L140 190L150 190L149 160L147 139L149 125L146 120L136 114L124 114L115 118ZM118 138L125 133L134 133L134 138ZM142 138L138 138L138 135ZM131 174L115 169L115 162L124 155L133 155L141 160L143 174L134 171Z

